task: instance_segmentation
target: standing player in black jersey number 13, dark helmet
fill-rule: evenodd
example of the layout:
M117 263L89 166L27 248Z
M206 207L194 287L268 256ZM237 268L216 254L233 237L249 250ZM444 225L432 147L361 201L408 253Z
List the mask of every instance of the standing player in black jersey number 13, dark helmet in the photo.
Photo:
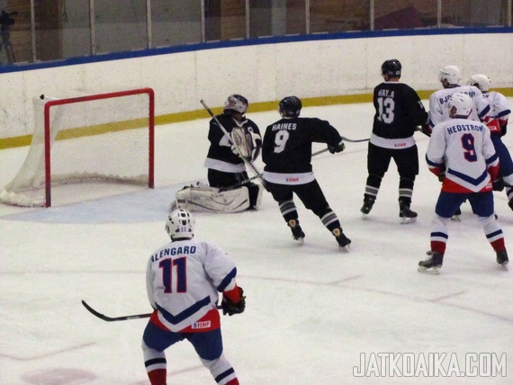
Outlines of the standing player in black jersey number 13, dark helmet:
M367 154L367 181L362 213L373 208L382 179L391 160L397 165L399 216L402 223L414 222L417 213L410 210L415 177L419 175L419 152L413 134L426 124L426 112L419 95L410 85L400 83L401 63L393 58L382 65L384 82L374 88L374 125Z

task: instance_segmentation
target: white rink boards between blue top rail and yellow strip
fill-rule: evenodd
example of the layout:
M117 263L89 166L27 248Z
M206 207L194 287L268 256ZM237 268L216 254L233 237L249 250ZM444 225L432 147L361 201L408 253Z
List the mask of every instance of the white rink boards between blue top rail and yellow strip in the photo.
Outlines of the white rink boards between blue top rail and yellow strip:
M464 79L491 76L493 87L513 86L513 33L315 40L130 58L2 74L0 138L31 134L31 98L75 90L111 92L151 87L156 115L200 110L204 99L222 105L228 94L250 103L370 93L384 60L399 58L403 81L418 90L439 88L449 64ZM504 49L498 49L504 48Z

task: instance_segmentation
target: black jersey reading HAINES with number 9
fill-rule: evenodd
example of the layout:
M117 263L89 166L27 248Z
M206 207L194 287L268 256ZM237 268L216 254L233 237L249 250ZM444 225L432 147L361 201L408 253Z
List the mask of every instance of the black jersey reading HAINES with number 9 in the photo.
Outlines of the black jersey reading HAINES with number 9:
M342 137L328 121L318 118L284 118L266 128L262 146L265 170L272 173L308 173L311 143L338 147Z

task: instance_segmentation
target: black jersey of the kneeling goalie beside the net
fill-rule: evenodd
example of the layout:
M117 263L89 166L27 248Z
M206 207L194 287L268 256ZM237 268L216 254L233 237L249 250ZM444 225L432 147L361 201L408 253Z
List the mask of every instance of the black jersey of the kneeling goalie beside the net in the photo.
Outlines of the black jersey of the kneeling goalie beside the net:
M244 121L238 123L231 117L231 115L225 113L217 115L216 118L228 133L231 133L231 130L240 125L247 131L253 131L260 135L260 130L258 129L257 124L246 117L244 118ZM214 161L220 161L232 165L244 164L242 158L238 157L238 155L235 155L231 151L231 142L214 119L211 119L210 121L209 140L211 142L211 147L207 154L207 160L213 159ZM207 163L207 166L209 166L209 164L210 163Z

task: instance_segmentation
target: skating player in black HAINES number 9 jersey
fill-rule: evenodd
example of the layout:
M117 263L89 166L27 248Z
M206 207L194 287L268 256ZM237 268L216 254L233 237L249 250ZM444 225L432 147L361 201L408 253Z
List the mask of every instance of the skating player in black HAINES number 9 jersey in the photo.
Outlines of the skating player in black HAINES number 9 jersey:
M311 166L312 142L326 143L332 154L342 151L345 145L338 130L328 121L300 118L301 110L299 98L285 97L278 108L282 119L266 128L262 146L266 189L278 202L294 239L302 241L304 237L293 201L295 193L336 237L338 246L347 249L351 240L342 231L337 214L329 208Z

